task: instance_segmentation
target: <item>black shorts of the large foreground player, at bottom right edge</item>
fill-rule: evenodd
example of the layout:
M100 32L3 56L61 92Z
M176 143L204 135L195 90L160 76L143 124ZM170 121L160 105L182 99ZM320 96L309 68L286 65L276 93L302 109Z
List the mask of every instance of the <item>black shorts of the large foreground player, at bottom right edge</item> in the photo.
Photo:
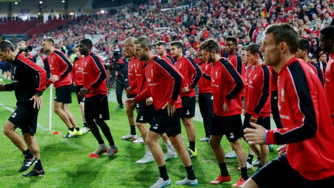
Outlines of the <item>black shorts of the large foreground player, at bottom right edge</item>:
M270 161L256 171L251 178L259 187L334 187L334 176L323 180L305 179L293 170L286 154Z

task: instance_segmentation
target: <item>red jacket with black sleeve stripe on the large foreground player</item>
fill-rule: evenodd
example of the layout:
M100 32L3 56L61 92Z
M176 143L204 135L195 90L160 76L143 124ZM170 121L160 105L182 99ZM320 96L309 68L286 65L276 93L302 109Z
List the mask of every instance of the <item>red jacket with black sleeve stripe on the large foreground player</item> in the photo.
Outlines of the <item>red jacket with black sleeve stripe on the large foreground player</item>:
M267 144L287 144L291 167L308 180L334 176L334 126L324 89L304 61L291 58L279 73L284 128L267 130Z

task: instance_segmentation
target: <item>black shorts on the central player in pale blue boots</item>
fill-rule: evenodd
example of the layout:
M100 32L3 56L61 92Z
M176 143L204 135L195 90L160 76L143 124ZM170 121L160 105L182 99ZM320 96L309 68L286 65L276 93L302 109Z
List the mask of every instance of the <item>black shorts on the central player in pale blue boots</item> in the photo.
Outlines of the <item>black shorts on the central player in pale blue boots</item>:
M165 133L168 137L181 134L180 108L175 110L173 116L168 116L167 109L155 111L150 130L154 133Z

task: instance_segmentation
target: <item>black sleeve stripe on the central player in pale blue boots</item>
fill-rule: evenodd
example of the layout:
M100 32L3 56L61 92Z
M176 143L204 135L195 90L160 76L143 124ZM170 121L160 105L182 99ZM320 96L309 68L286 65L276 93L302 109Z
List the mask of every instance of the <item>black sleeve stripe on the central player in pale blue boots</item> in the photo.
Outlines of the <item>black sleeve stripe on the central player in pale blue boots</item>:
M159 58L159 57L155 57L153 59L153 61L155 63L157 63L158 65L160 65L167 73L170 74L171 77L173 77L174 79L174 86L173 86L173 91L172 91L172 99L173 100L177 100L180 90L181 90L181 84L182 84L182 77L180 76L180 74L175 71L175 69L173 67L171 67L171 65L167 62L165 62L165 60Z

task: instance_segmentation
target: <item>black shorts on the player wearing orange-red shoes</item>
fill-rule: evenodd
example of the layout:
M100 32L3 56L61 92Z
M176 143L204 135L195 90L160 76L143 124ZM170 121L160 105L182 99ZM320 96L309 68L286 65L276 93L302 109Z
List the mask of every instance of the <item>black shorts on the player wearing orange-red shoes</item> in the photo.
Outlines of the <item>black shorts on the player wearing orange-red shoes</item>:
M218 116L213 115L211 134L212 136L225 135L229 142L235 142L244 137L243 122L241 115Z

